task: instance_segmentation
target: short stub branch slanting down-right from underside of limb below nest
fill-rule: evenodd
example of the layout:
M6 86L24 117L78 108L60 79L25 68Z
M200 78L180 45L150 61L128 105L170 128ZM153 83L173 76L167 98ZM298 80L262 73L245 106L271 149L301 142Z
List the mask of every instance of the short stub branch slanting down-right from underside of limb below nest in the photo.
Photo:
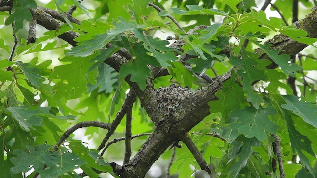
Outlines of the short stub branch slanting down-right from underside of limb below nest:
M211 175L211 170L208 167L208 164L203 158L203 155L199 152L195 144L193 143L192 139L189 136L184 137L181 141L185 143L189 151L194 156L195 160L197 161L198 165L201 167L202 170L206 171L209 175Z

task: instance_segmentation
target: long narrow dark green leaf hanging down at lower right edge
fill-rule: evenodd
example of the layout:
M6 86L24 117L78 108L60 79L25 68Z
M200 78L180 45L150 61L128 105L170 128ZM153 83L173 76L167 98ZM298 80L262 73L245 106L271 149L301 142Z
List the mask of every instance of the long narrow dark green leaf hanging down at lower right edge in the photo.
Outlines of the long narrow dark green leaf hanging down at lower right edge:
M290 116L290 114L288 113L287 110L285 110L285 120L286 120L286 124L287 124L287 128L288 128L288 132L289 132L289 138L291 141L291 148L292 148L292 152L293 153L298 153L298 156L301 160L301 164L308 169L308 171L314 175L312 166L308 160L308 158L305 156L305 154L303 153L303 151L307 152L308 154L311 154L312 156L315 157L315 153L312 150L312 142L304 135L302 135L301 133L299 133L295 127L294 127L294 122ZM314 140L315 141L315 140Z

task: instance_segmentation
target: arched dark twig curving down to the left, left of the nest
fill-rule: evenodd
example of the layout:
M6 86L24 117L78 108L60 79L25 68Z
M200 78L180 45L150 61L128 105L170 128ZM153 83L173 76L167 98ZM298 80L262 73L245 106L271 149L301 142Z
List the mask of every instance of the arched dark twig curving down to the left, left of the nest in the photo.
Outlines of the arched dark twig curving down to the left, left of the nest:
M90 127L90 126L100 127L100 128L104 128L104 129L108 129L108 130L110 129L109 124L104 123L104 122L99 122L99 121L84 121L84 122L77 123L74 126L72 126L71 128L69 128L63 134L63 136L56 143L54 150L57 150L58 147L69 137L69 135L72 134L73 132L75 132L77 129L83 128L83 127Z

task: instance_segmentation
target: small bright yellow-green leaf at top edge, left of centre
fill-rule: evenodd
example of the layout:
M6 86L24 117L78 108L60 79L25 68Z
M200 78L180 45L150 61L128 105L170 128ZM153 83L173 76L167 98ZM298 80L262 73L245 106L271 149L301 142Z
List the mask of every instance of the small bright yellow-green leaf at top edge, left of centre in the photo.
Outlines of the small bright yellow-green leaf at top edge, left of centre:
M151 0L132 0L133 5L128 4L129 9L133 12L133 17L138 24L143 24L143 18L149 15L153 8L148 6Z

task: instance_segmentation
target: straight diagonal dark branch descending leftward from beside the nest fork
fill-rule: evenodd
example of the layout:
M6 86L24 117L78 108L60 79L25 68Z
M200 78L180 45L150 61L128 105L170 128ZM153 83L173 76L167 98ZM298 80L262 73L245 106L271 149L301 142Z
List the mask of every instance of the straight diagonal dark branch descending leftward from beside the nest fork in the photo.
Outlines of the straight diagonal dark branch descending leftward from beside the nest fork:
M123 116L128 112L129 108L132 107L133 103L136 100L136 95L130 90L128 94L126 95L125 101L122 105L121 110L117 113L116 118L112 121L110 125L110 129L108 130L108 133L106 134L105 138L101 142L100 146L97 148L97 150L101 150L105 147L106 142L110 138L110 136L114 133L115 129L118 127L118 125L121 123L121 120ZM104 151L103 151L104 153ZM103 154L101 154L103 155Z

